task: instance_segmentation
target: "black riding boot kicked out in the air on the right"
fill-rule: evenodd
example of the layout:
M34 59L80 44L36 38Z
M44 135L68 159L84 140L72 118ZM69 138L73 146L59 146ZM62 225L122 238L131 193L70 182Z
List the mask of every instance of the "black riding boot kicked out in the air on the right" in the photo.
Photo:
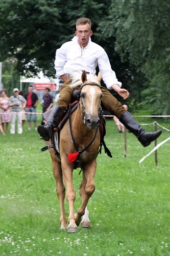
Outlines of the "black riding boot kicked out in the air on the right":
M144 147L149 146L150 143L157 139L162 133L162 130L146 132L142 127L140 127L138 122L131 116L128 111L124 112L119 120L138 138Z

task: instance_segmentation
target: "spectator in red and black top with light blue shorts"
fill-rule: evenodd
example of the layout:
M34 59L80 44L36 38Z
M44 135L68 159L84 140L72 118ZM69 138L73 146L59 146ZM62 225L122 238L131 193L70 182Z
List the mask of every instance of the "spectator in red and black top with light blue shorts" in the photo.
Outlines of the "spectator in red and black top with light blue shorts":
M28 130L31 130L31 119L34 122L34 128L37 130L37 113L36 106L38 104L38 96L33 92L33 87L28 87L28 93L25 94L26 99L26 117L28 121ZM32 116L32 117L31 117Z

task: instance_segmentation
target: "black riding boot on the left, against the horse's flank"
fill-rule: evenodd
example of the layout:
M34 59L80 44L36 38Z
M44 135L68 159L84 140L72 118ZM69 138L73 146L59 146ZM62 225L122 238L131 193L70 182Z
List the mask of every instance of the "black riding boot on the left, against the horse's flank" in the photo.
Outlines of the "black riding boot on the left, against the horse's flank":
M39 126L37 129L40 136L42 136L42 139L49 141L52 136L53 129L58 126L63 114L64 111L60 106L55 105L53 107L46 125Z

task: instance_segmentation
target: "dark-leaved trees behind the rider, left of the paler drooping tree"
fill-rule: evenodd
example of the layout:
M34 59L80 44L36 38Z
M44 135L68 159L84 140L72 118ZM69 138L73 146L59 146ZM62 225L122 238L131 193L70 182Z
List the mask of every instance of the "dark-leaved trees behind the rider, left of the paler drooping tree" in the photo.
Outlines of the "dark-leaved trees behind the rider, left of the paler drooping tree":
M15 58L16 70L25 76L37 75L42 70L53 77L56 49L72 39L77 18L89 17L94 31L92 40L106 50L118 79L130 91L126 103L137 104L143 87L139 79L141 70L129 64L128 58L122 58L116 48L118 28L112 13L115 6L111 3L107 0L1 0L0 60ZM124 103L118 94L113 94Z

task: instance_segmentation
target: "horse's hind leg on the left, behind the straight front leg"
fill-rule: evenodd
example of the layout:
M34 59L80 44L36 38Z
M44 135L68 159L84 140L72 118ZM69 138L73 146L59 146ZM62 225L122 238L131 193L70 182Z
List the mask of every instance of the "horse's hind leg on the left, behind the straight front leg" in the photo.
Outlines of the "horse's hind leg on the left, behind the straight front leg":
M52 167L53 167L53 175L56 180L56 192L58 200L60 201L60 229L67 229L67 219L65 215L65 208L64 208L64 198L65 198L65 187L63 184L63 174L61 169L61 163L57 162L56 160L52 160Z

